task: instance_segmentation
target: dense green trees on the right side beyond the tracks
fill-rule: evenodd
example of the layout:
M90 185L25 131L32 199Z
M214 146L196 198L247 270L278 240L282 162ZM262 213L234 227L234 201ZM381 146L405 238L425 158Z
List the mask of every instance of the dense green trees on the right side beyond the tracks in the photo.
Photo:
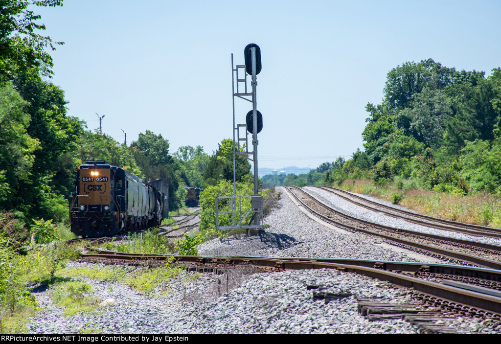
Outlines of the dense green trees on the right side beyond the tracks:
M501 196L501 69L456 71L431 59L386 78L381 104L367 104L357 150L326 181L413 180L428 190Z

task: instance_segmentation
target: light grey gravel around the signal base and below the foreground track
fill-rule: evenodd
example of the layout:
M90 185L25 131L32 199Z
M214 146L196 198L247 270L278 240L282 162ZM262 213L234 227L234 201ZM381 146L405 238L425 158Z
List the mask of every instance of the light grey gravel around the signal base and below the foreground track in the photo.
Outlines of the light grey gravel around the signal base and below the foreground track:
M331 257L434 262L382 244L361 233L332 229L308 217L285 191L265 222L265 233L214 239L198 247L201 255L269 257ZM68 268L102 265L70 262ZM409 303L408 290L389 283L335 270L301 270L278 273L227 271L182 273L145 296L120 282L75 278L92 285L92 295L107 300L97 312L69 317L55 307L51 290L35 289L44 309L29 325L30 333L416 333L400 319L368 321L357 312L359 297L381 302ZM226 285L228 288L226 289ZM353 296L314 300L308 285L322 284L327 292ZM451 326L469 333L496 333L480 319L457 317ZM499 329L501 331L501 329Z

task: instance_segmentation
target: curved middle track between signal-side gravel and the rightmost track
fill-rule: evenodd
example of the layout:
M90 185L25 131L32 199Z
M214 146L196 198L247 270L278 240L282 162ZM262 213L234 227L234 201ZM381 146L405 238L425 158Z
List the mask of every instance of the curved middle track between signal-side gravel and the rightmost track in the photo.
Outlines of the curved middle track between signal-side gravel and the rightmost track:
M413 249L449 263L501 269L501 262L498 261L501 246L375 224L338 212L300 188L289 187L287 190L306 210L335 226L377 235L389 244ZM482 256L477 255L479 253Z

